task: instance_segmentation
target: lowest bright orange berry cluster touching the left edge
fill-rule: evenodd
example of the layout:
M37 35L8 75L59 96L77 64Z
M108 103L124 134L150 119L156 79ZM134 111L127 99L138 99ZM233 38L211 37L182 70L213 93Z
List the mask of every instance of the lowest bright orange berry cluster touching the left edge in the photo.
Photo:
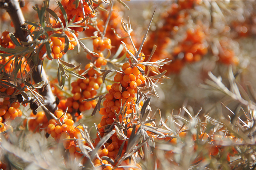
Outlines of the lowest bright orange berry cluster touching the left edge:
M21 117L22 112L20 111L19 102L11 102L9 100L4 100L0 103L0 125L1 125L1 132L4 132L6 130L10 129L9 133L13 132L13 128L10 125L10 122L14 120L16 117Z

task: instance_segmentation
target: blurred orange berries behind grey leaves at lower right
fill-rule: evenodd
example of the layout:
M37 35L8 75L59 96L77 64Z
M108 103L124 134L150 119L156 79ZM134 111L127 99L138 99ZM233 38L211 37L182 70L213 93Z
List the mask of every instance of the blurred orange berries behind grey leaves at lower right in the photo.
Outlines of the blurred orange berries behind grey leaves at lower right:
M186 128L185 128L186 129ZM188 135L190 134L189 132L180 132L177 134L177 136L174 137L157 137L155 138L155 141L159 143L171 143L172 145L177 145L177 143L183 143L185 140L190 138ZM172 135L172 134L165 134L165 135ZM194 152L200 153L192 162L191 164L197 164L200 161L206 161L207 159L211 159L211 157L215 158L221 158L221 159L226 159L227 162L230 162L230 156L235 156L238 154L237 150L232 147L232 146L226 146L226 142L235 142L242 144L242 140L235 137L232 133L227 133L225 136L222 134L207 134L207 133L202 133L202 134L192 134L191 137L193 138L194 141ZM178 142L179 140L179 142ZM200 144L201 145L200 145ZM205 145L202 147L202 145ZM208 151L203 150L203 148L208 148ZM228 151L227 153L225 152ZM174 159L174 153L173 151L166 151L165 156L170 158L170 160L175 160ZM175 161L172 162L173 164ZM159 166L160 164L158 164ZM178 165L178 164L177 164ZM161 168L160 166L158 168Z

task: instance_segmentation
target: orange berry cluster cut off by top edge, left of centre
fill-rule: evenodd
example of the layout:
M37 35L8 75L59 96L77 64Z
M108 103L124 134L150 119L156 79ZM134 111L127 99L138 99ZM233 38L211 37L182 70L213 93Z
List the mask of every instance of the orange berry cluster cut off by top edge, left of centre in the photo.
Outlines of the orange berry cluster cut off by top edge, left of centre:
M61 4L62 4L62 6L65 9L68 21L71 20L73 17L75 17L75 22L83 20L84 17L87 17L88 15L89 15L89 17L94 17L94 15L90 15L91 14L91 10L90 10L89 5L87 4L87 2L84 1L84 0L83 0L83 8L84 8L85 16L84 16L84 13L83 13L83 8L81 6L81 2L78 3L78 7L77 8L75 8L76 5L75 5L75 1L74 0L72 0L72 1L71 0L62 0ZM61 14L59 16L59 18L61 19L62 23L66 24L65 20L63 18L63 14L62 14L61 10L59 10L59 13ZM88 19L87 19L87 21L88 21ZM85 21L85 22L87 23L87 21ZM86 26L85 22L80 23L79 25ZM58 27L60 27L60 24L59 24ZM79 28L79 27L73 27L72 29L75 30L75 31L79 31L79 32L84 30L83 28Z

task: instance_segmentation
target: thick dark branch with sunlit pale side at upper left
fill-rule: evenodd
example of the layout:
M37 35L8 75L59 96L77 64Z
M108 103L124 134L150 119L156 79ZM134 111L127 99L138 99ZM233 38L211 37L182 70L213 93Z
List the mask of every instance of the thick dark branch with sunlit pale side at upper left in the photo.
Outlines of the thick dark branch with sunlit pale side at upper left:
M24 25L25 18L20 8L20 4L21 6L23 6L24 2L22 1L19 1L19 2L18 1L0 1L0 2L1 2L1 8L5 9L6 12L8 12L8 14L11 17L11 20L15 28L14 35L16 36L16 38L19 38L20 41L25 41L25 42L29 41L31 37L28 35L26 31L23 31L22 29L20 29L20 27L26 28ZM39 61L39 64L37 67L35 67L33 61L31 60L29 62L29 67L31 70L33 69L33 72L32 72L33 84L39 83L41 81L45 82L45 85L42 88L38 89L38 92L41 96L44 97L44 106L51 113L54 113L54 111L57 109L56 98L52 93L51 86L49 85L41 60ZM52 118L50 115L48 114L46 115L48 120Z

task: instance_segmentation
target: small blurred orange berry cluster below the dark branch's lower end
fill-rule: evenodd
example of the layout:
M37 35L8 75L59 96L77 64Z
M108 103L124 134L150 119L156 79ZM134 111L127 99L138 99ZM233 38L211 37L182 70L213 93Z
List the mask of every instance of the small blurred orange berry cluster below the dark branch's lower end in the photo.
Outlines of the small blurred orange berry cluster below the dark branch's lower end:
M28 130L31 132L40 132L41 129L46 130L48 126L48 120L44 112L38 112L37 115L34 115L32 112L30 114L30 119L25 119L23 121L23 126L28 125Z

